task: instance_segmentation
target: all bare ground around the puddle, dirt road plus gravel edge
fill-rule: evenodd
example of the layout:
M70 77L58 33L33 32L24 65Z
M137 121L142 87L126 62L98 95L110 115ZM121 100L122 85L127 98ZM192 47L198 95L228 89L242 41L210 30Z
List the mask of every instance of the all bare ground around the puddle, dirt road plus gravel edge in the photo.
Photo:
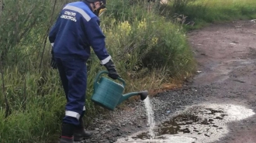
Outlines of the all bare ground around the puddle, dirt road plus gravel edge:
M235 104L256 112L256 22L218 23L188 33L199 64L199 72L189 83L150 100L156 124L174 117L193 104ZM137 131L147 130L144 103L118 108L110 117L99 116L90 129L92 139L84 142L116 142ZM216 143L256 143L256 115L227 124L228 134ZM206 137L207 138L207 137Z

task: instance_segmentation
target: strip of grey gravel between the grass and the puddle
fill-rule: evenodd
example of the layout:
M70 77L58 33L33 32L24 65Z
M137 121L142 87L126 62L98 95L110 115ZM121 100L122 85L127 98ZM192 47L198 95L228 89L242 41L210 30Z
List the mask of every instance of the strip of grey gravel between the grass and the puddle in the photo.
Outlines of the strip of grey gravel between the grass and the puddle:
M207 86L195 88L187 85L181 89L164 91L150 97L156 124L170 119L178 111L184 110L186 106L205 100L207 97L206 88ZM207 92L209 90L207 89ZM95 118L95 121L89 127L94 129L94 136L76 143L110 143L115 142L117 138L126 138L137 131L147 130L147 113L144 101L137 100L133 104L128 104L127 107L131 110L121 111L117 107L115 111L109 112L110 117Z

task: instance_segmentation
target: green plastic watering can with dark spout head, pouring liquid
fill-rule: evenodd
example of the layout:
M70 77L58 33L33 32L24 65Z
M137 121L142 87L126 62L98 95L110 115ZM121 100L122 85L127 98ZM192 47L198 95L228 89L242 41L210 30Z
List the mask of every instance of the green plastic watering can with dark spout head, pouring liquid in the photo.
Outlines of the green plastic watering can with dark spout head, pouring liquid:
M99 72L94 81L92 101L95 102L95 104L99 104L101 107L114 111L118 104L121 104L124 100L127 100L132 96L140 95L140 100L147 98L147 90L123 95L123 90L126 84L125 81L122 78L118 78L117 80L122 83L120 84L109 80L109 78L100 77L103 73L108 74L109 72L105 70Z

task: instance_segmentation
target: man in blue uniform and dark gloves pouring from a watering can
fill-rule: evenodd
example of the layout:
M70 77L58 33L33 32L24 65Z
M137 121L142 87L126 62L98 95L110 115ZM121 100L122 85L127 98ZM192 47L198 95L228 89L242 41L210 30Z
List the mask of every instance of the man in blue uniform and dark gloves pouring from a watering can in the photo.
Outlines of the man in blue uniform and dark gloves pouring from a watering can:
M50 29L49 40L53 46L51 66L58 69L67 98L61 143L73 143L92 136L91 132L85 131L82 120L87 83L85 63L90 56L90 46L101 64L106 66L109 77L113 80L119 77L99 27L99 15L105 7L106 0L69 3Z

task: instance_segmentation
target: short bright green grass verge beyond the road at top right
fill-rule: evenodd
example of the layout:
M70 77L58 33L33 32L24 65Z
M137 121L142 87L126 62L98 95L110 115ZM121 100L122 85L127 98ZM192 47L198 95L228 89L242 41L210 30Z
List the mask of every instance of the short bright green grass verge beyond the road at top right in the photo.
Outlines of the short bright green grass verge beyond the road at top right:
M185 15L188 22L195 22L193 26L185 26L187 29L199 29L213 22L255 19L256 17L256 2L253 0L186 0L177 3L175 7L173 3L169 3L164 8L164 15L168 18L171 18L174 13Z

